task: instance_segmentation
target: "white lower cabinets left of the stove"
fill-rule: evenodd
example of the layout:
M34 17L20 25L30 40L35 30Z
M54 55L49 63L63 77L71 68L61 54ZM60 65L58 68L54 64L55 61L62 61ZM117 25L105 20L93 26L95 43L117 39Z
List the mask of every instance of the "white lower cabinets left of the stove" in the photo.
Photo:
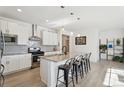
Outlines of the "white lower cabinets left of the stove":
M4 56L2 64L5 66L4 74L31 67L31 54Z

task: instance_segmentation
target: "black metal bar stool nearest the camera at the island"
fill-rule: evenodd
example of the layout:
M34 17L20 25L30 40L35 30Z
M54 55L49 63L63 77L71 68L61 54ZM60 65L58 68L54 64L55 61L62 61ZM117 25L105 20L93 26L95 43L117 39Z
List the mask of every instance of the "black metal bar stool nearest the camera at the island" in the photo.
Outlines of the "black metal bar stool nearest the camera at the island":
M73 86L75 86L74 85L74 78L73 78L73 62L74 62L74 58L71 58L71 59L67 60L64 65L60 65L58 67L56 87L58 87L58 81L65 84L66 87L68 87L68 85L71 82L73 83ZM64 71L64 75L59 76L59 71L60 70ZM70 82L68 80L69 71L71 71L71 79L72 79ZM62 77L64 77L64 82L60 80L60 78L62 78Z

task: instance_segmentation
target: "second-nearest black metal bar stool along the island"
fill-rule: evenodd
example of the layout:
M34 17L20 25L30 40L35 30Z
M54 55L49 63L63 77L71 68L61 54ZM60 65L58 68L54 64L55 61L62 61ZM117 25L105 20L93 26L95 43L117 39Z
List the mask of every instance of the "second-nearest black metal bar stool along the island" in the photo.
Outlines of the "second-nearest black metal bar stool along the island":
M81 79L83 77L83 73L82 73L82 70L81 70L81 59L82 59L81 55L76 56L75 59L74 59L74 63L73 63L73 70L75 72L76 83L78 83L78 72L80 73Z

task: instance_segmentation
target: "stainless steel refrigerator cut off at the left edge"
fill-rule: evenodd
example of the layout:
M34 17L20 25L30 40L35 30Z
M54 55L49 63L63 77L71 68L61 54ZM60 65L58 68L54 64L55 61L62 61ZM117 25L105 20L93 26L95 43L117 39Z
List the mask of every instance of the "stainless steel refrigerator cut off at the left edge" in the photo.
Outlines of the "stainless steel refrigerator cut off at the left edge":
M5 48L4 35L2 33L2 30L0 30L0 87L4 85L4 81L5 81L4 76L3 76L5 67L1 62L4 48Z

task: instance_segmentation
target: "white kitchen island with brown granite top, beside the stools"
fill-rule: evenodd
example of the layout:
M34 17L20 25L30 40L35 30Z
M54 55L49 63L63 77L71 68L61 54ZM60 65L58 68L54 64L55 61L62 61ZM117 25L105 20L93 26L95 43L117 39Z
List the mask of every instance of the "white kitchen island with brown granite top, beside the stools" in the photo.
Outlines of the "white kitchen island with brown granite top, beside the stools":
M58 66L65 64L65 62L76 55L51 55L41 57L40 61L40 76L41 81L44 82L48 87L55 87L57 80L57 70ZM59 73L60 76L63 75L63 72Z

